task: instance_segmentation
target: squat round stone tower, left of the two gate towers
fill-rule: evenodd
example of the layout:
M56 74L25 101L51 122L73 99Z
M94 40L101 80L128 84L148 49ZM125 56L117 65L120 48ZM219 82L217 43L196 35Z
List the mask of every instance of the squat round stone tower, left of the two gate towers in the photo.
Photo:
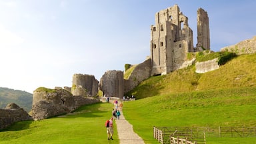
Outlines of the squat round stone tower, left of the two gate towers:
M74 74L71 92L73 95L81 95L83 97L96 96L98 93L99 81L94 75Z

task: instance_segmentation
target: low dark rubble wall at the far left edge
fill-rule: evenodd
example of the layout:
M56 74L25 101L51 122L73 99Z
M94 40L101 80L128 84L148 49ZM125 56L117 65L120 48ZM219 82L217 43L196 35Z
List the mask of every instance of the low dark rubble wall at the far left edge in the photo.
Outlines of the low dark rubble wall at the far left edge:
M0 129L9 127L18 121L29 120L33 120L32 117L15 103L10 103L5 109L0 109Z

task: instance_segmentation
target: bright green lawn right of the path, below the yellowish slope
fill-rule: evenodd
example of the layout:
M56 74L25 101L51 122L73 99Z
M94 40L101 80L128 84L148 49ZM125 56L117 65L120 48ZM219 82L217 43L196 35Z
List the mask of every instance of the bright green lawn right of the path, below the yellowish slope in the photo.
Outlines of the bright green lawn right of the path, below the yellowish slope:
M124 103L123 110L146 143L157 143L153 138L153 126L255 127L255 100L256 87L196 91L130 101ZM207 139L207 143L237 143L238 139L243 139L240 143L256 141L256 137L218 139Z

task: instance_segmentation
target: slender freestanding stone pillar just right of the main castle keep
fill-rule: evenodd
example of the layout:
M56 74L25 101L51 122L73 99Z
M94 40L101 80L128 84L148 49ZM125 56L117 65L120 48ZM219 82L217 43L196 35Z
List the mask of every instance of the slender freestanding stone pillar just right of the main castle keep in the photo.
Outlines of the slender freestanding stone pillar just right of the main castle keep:
M197 10L197 49L210 49L209 17L205 10Z

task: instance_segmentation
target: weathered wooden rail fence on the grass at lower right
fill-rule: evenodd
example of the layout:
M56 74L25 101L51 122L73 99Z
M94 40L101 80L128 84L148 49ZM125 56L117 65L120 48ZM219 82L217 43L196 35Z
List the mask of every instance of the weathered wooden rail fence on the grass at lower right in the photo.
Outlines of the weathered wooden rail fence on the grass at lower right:
M207 137L256 137L256 127L153 127L159 143L206 143ZM175 140L174 140L175 139Z

